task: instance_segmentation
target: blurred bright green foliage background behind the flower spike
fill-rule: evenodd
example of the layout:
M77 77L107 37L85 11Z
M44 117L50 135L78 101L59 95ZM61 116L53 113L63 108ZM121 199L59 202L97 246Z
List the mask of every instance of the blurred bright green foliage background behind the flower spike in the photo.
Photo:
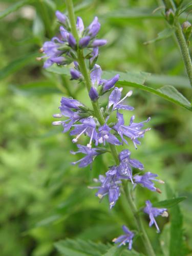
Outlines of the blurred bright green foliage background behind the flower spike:
M86 25L94 16L99 17L99 37L109 42L100 49L98 58L103 70L152 73L145 84L153 88L170 84L191 101L192 90L174 37L143 44L167 27L162 9L152 14L162 6L161 1L74 1L74 5L76 15ZM57 33L59 25L54 13L66 11L65 2L1 0L0 8L1 16L5 16L0 20L0 254L57 255L54 243L66 238L111 243L121 233L122 224L135 229L133 216L123 196L110 211L108 200L99 203L88 185L93 184L92 179L98 174L106 172L113 159L108 154L98 157L91 171L89 167L71 166L71 161L79 159L70 154L70 150L76 151L76 145L69 134L62 134L60 126L51 124L61 96L75 95L90 105L87 92L69 81L69 77L42 69L42 62L35 59L40 56L38 49L43 42ZM191 21L191 15L187 17L184 13L181 22L187 18ZM124 88L124 93L130 89ZM132 157L139 159L147 171L158 174L177 196L187 196L180 208L181 230L189 254L191 112L138 89L133 89L129 104L135 107L137 122L152 117L152 130L142 139L139 149L136 151L130 144ZM126 113L126 121L130 117ZM161 195L138 188L138 206L142 207L146 199L166 199L165 186L159 187ZM168 255L162 238L169 229L168 220L158 218L163 230L159 235L154 227L148 228L148 218L144 218L157 255ZM140 238L134 248L143 250Z

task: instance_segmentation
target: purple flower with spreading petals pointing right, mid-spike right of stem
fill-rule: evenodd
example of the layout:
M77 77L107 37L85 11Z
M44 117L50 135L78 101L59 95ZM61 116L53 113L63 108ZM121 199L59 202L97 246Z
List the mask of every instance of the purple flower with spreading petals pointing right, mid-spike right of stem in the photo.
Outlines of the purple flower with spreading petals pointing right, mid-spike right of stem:
M113 129L118 132L121 139L127 144L127 141L123 138L123 136L129 137L133 143L135 148L137 148L136 144L140 144L140 141L137 138L143 137L144 133L150 131L150 128L141 130L144 122L149 122L151 118L149 117L146 121L140 123L134 123L135 116L132 116L130 120L130 125L124 125L123 115L117 112L117 123L113 126Z

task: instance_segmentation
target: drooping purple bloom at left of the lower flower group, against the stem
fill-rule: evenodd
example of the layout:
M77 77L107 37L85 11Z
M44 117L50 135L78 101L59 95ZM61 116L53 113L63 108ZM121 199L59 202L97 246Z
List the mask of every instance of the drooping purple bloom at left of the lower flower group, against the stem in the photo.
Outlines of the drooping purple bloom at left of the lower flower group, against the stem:
M117 170L115 166L113 166L108 172L106 172L105 175L105 177L100 175L99 180L95 180L96 182L101 183L100 186L89 188L98 188L98 191L95 195L100 199L108 195L110 209L112 209L120 196L119 184L121 183L121 181L117 176Z

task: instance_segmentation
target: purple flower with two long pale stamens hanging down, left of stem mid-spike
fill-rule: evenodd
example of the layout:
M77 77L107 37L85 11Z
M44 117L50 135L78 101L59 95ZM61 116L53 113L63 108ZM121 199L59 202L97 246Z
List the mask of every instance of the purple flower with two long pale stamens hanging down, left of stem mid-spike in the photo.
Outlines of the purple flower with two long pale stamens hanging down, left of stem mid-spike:
M72 140L72 142L76 143L78 138L82 134L86 134L90 137L90 142L87 144L87 147L92 146L92 140L97 141L97 132L96 132L96 123L95 120L92 117L83 118L80 120L82 124L74 124L73 126L75 129L70 132L70 135L77 135L75 139Z

